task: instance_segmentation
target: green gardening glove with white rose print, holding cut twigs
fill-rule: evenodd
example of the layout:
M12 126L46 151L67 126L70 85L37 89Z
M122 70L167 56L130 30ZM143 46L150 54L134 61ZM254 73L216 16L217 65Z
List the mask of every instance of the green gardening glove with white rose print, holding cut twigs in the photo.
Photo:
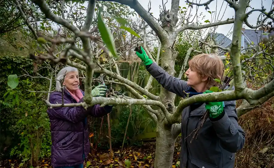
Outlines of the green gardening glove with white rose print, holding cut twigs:
M213 91L206 90L203 93L212 93ZM223 113L223 102L206 102L206 109L209 111L211 118L216 118Z

